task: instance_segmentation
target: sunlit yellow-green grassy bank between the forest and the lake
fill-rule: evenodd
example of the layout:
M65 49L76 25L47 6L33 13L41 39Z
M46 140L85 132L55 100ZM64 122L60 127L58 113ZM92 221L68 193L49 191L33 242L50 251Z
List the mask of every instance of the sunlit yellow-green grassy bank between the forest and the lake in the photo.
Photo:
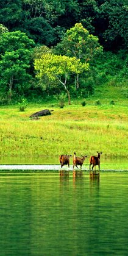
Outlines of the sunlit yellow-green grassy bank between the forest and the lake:
M100 92L99 92L100 93ZM101 94L102 95L102 94ZM128 157L128 104L127 99L101 96L73 100L59 108L57 102L29 104L25 112L18 105L0 107L0 155L20 157L57 157L59 154L96 155L104 158ZM112 98L113 99L113 98ZM44 108L53 109L52 115L32 120L29 116ZM41 139L42 137L42 139Z

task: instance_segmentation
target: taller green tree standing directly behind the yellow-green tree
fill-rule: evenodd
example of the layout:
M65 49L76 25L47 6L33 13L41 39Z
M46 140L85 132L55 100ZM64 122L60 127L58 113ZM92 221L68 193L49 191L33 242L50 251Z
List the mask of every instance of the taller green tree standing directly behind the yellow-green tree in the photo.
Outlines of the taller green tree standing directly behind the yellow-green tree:
M82 63L91 63L96 55L102 53L102 46L98 42L98 37L90 35L81 23L76 23L66 31L63 40L55 47L55 51L69 57L74 56ZM76 88L79 88L79 74L76 76Z

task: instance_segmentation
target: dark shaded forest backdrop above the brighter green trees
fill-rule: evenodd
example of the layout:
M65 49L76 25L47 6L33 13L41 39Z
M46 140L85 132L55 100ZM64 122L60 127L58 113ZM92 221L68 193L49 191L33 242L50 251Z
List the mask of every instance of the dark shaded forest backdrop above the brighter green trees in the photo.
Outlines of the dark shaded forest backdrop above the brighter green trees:
M60 41L76 23L99 37L105 49L127 48L127 0L3 0L0 23L10 31L21 30L37 43Z

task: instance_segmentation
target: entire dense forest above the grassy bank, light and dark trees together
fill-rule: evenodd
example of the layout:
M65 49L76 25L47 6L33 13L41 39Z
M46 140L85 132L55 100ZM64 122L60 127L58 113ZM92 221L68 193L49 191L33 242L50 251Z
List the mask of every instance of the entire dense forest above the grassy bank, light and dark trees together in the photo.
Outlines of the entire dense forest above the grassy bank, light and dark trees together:
M99 85L128 98L128 0L3 0L0 104L71 96Z

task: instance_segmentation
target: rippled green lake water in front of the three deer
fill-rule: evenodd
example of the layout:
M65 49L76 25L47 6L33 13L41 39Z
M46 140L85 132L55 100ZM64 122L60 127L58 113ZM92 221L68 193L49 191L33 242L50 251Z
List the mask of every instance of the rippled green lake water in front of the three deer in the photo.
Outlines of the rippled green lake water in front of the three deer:
M1 255L128 255L128 173L0 174Z

